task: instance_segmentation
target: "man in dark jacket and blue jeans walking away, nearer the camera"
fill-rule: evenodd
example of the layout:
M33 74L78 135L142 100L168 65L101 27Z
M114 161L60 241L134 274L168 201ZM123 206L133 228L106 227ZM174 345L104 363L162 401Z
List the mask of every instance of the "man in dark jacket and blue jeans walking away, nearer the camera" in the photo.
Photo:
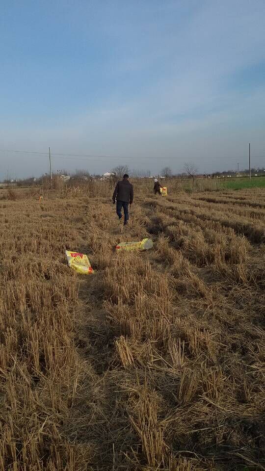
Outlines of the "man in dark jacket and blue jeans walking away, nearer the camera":
M123 176L123 180L116 184L112 202L113 205L115 204L116 200L116 212L119 216L119 219L122 218L121 210L123 208L124 211L124 225L126 226L129 221L129 203L130 206L133 202L133 186L132 183L129 182L129 175L127 173Z

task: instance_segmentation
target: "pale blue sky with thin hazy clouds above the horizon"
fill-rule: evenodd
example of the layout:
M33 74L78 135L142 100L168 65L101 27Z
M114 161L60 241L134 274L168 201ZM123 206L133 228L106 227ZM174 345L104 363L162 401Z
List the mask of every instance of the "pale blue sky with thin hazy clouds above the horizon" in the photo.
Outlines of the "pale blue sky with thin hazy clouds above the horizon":
M265 165L264 0L0 6L0 178Z

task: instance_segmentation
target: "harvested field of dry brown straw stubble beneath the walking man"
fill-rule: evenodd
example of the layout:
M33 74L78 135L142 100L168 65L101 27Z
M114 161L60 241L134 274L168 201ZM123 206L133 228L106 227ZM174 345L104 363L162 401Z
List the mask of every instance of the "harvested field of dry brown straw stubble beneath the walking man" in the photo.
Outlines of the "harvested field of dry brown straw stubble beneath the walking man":
M265 470L265 192L69 195L0 201L0 471Z

